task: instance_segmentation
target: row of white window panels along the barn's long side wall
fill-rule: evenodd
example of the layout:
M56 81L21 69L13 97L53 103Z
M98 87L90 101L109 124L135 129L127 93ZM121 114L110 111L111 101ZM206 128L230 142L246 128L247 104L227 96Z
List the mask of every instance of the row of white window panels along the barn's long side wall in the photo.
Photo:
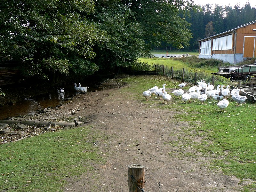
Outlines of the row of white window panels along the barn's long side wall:
M216 37L200 43L200 55L211 55L212 51L232 49L232 34Z

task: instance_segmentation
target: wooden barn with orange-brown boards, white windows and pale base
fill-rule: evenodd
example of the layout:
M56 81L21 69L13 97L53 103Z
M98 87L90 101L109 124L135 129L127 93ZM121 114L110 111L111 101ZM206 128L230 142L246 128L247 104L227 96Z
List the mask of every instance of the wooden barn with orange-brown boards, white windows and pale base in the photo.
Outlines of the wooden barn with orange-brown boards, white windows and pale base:
M218 59L235 65L256 57L256 20L198 42L199 58Z

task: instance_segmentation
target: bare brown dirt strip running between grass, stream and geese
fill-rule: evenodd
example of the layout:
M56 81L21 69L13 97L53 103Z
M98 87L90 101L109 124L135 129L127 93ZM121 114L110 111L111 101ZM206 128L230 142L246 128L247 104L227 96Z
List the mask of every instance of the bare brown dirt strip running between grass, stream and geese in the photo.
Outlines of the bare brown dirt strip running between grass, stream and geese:
M76 95L58 110L35 117L50 119L58 115L55 120L66 121L68 116L69 119L81 116L81 121L86 122L82 126L93 125L93 129L106 135L95 142L100 155L107 159L106 164L94 164L92 161L94 170L68 178L63 191L127 192L127 165L131 164L145 166L145 192L160 189L162 192L231 192L242 189L243 182L236 177L208 168L208 158L211 157L182 156L183 152L197 152L187 148L186 143L184 147L168 144L178 141L182 129L189 127L189 124L173 118L175 111L163 110L157 105L150 107L142 102L142 95L134 100L127 99L127 94L132 93L122 92L122 86L128 86L125 83L109 80L105 86L111 89ZM155 97L151 99L157 100ZM80 110L74 110L75 114L71 115L69 112L73 109Z

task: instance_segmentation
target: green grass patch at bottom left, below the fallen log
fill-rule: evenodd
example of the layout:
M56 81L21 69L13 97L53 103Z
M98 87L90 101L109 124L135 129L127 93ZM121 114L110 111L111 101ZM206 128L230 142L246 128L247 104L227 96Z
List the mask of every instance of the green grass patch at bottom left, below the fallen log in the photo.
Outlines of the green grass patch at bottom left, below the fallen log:
M76 127L0 145L0 191L61 191L66 177L90 170L91 161L104 162L86 142L91 133Z

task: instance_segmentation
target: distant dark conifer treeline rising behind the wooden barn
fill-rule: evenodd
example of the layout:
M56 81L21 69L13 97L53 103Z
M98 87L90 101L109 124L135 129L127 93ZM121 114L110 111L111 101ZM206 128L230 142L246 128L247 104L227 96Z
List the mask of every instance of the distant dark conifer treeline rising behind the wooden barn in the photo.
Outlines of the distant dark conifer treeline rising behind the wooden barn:
M192 39L189 42L187 50L198 50L198 40L208 36L219 34L237 26L256 20L256 8L249 2L245 5L236 4L232 6L219 6L206 4L202 6L188 5L180 10L181 18L190 23ZM170 44L162 43L155 49L173 50Z

